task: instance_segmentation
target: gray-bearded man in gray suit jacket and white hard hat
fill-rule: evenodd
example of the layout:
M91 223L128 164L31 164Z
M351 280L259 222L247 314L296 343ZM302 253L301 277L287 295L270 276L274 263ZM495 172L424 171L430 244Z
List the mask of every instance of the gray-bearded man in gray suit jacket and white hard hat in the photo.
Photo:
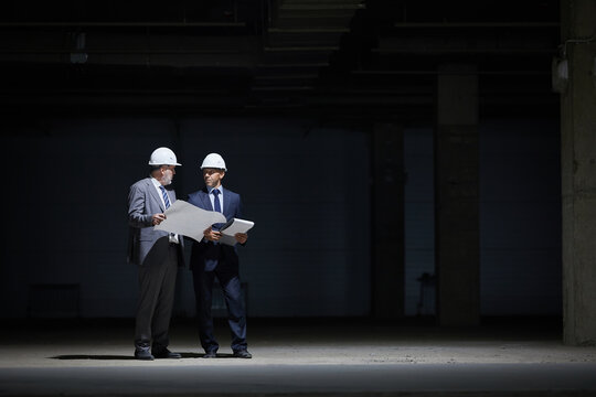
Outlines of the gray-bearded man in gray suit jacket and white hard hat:
M171 189L177 162L168 148L158 148L149 160L150 176L128 194L128 261L138 265L139 302L135 326L135 358L180 358L168 350L178 266L183 266L182 236L155 230L175 201Z

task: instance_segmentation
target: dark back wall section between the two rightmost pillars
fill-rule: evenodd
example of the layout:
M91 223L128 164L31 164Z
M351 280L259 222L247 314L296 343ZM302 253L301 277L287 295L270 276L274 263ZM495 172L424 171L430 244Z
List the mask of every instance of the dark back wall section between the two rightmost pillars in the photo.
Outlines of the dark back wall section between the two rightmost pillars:
M562 313L561 144L553 119L480 129L483 314Z

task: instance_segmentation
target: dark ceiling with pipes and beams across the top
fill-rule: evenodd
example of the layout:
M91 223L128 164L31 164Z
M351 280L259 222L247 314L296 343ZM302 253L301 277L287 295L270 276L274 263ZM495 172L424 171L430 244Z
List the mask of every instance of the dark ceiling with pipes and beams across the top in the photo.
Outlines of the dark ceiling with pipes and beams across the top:
M558 112L558 1L8 1L4 114L432 118L471 64L488 117Z

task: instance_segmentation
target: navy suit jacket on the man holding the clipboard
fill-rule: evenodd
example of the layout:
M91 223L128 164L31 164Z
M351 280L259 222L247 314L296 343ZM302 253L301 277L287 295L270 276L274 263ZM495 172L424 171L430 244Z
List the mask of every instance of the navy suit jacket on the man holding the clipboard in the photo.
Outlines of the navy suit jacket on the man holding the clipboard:
M223 214L226 221L232 218L242 217L242 201L237 193L234 193L227 189L222 187L223 191ZM188 202L196 205L200 208L213 211L211 200L209 198L209 191L205 187L202 190L189 194ZM214 229L217 229L214 225ZM228 246L225 244L213 244L212 242L194 242L192 244L190 268L191 270L211 271L215 267L221 268L236 268L238 267L238 255L236 253L236 246Z

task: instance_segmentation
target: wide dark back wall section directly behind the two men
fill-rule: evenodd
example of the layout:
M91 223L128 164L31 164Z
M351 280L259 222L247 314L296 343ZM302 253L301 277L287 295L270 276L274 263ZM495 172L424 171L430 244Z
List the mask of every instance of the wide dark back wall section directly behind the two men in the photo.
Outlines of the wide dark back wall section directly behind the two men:
M174 179L180 197L202 186L205 154L225 158L224 185L242 194L256 224L241 249L249 315L368 313L364 133L299 119L166 118L21 120L4 131L14 201L4 232L3 316L24 316L30 303L34 314L71 310L75 294L62 285L79 286L83 316L134 314L126 197L160 146L183 164ZM179 276L177 312L190 315L190 273Z

